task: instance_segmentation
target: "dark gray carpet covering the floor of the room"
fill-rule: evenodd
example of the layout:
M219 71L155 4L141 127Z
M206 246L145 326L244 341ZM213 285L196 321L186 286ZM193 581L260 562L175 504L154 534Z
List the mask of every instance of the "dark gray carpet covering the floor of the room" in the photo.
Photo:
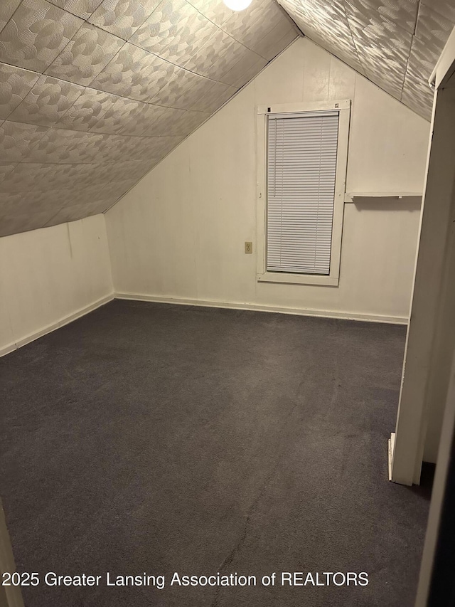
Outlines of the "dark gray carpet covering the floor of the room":
M27 607L411 607L428 495L386 458L404 345L392 325L115 301L1 359L1 495L18 571L41 574ZM282 571L369 584L262 586Z

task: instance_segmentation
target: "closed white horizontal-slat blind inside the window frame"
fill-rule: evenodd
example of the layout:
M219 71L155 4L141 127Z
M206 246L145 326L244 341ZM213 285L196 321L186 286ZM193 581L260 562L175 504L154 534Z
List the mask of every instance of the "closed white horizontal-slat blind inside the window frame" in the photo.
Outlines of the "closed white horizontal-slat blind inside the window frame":
M338 111L268 117L267 271L329 274Z

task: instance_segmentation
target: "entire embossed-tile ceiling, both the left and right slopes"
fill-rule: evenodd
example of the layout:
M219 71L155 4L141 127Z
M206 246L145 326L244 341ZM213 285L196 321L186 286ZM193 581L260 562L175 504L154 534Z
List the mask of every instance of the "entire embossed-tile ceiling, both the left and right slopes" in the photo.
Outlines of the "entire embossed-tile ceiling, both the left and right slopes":
M296 36L272 0L50 1L0 0L1 234L108 209ZM451 0L279 1L428 119Z

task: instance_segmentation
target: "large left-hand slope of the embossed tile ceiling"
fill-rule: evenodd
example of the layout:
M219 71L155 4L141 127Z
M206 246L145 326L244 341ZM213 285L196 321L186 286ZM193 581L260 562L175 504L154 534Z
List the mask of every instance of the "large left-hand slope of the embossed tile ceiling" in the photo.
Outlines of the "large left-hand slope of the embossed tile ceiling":
M0 0L0 236L108 209L298 35L274 0Z

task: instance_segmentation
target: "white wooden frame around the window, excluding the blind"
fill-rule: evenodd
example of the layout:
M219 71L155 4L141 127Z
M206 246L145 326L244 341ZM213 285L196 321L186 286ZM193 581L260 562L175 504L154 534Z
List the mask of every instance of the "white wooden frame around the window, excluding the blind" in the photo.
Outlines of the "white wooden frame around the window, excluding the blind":
M331 241L330 273L293 274L267 272L267 116L295 112L339 110L338 149L336 157L335 200ZM257 107L257 280L261 283L338 286L340 279L341 237L343 233L346 169L348 166L350 100L330 102L287 103Z

